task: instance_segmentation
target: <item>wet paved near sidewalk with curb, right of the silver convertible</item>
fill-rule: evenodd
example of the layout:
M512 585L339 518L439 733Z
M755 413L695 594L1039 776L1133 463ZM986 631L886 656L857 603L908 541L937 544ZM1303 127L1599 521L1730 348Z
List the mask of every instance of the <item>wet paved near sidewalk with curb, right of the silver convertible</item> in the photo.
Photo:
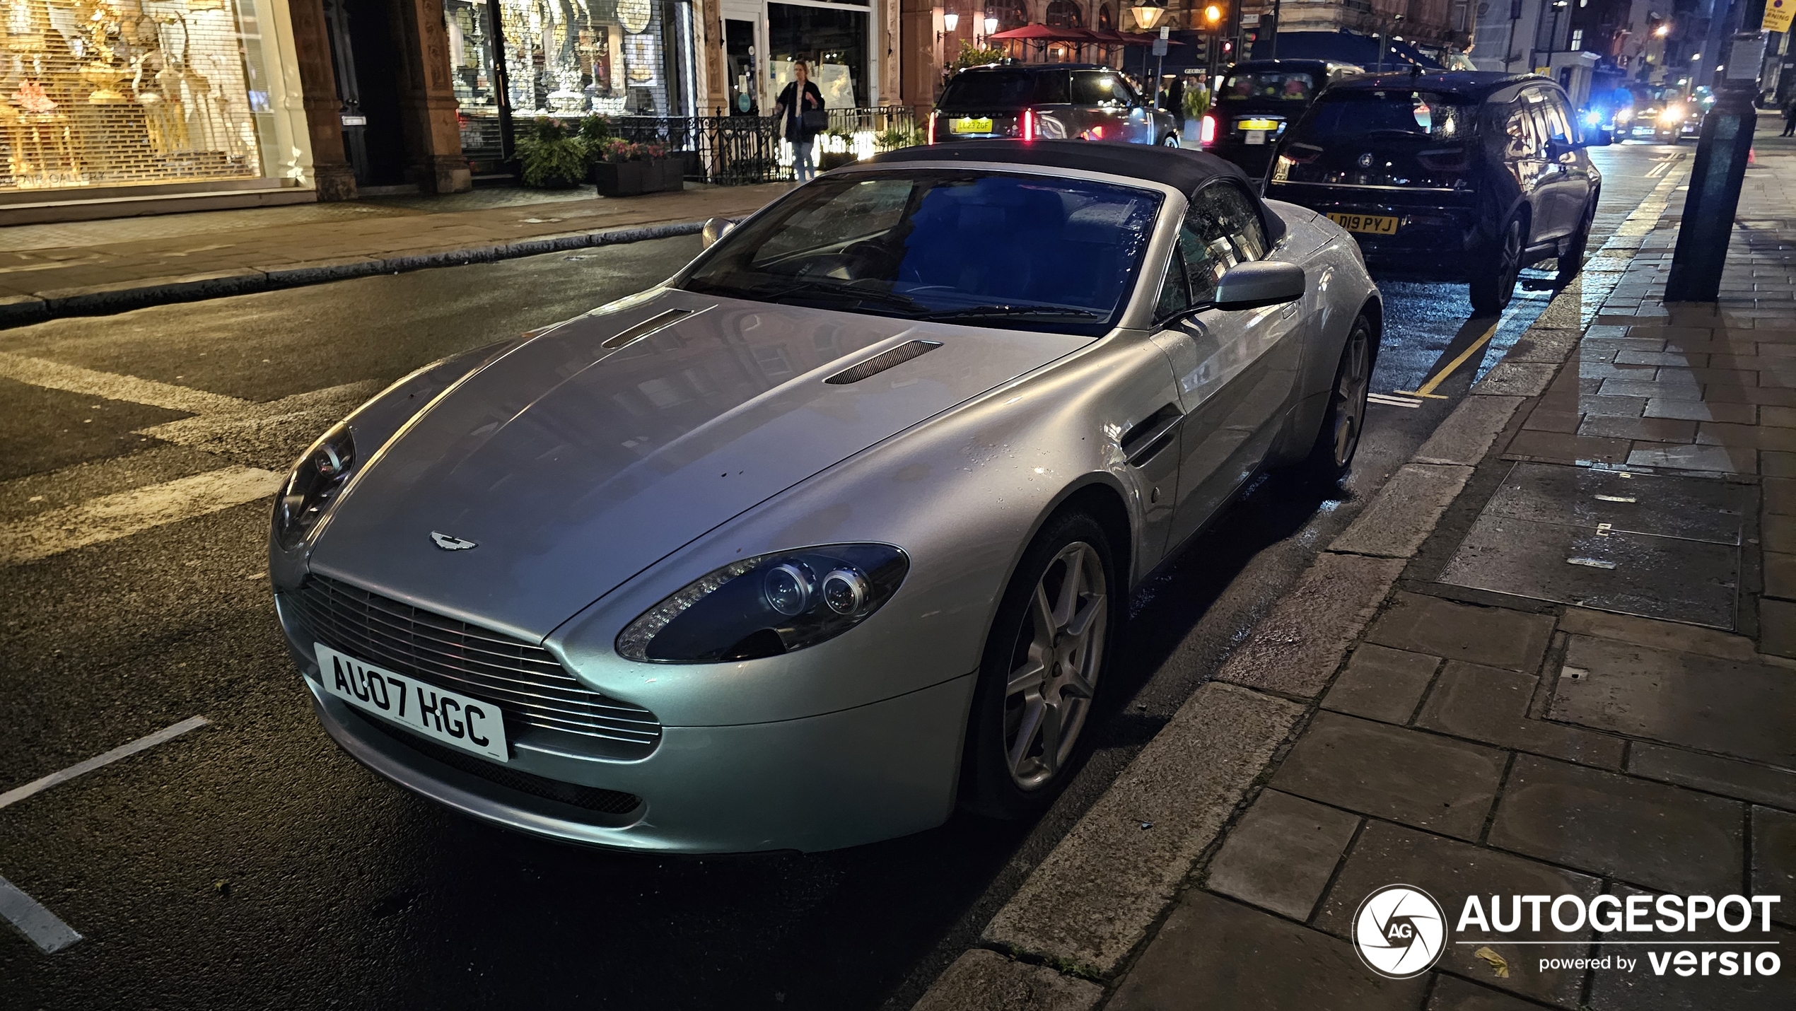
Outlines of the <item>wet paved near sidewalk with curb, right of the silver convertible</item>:
M1661 300L1685 162L918 1011L1796 1007L1796 145L1765 133L1721 303ZM1412 979L1352 945L1394 884L1449 928ZM1782 901L1769 934L1458 928L1598 894ZM1645 957L1677 950L1701 975Z

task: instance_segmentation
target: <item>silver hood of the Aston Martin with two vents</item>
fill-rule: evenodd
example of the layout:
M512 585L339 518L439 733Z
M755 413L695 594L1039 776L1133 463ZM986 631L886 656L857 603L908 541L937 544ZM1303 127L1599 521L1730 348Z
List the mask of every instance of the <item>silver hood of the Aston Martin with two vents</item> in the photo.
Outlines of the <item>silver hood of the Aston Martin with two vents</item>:
M603 347L670 309L688 314ZM824 382L912 339L941 347ZM309 566L542 637L733 515L1090 341L684 291L627 300L438 397L354 476ZM433 532L476 548L438 548Z

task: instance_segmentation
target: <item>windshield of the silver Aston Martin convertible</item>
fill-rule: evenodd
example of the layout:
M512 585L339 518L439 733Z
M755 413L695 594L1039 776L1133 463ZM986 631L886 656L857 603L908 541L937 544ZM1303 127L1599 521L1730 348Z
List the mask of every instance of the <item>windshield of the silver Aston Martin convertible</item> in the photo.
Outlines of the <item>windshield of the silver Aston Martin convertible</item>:
M1133 291L1160 194L916 171L817 180L729 232L686 291L1097 336Z

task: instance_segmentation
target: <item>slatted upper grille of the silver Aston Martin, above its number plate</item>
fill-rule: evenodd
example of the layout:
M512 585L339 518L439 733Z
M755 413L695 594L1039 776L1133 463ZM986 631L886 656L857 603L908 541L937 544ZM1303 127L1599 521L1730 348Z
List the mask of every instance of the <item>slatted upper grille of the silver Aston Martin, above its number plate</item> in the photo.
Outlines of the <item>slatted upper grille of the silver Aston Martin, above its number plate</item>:
M582 734L611 758L643 758L661 742L654 713L584 688L535 643L325 576L309 576L282 602L334 650L496 702L508 734L512 727Z

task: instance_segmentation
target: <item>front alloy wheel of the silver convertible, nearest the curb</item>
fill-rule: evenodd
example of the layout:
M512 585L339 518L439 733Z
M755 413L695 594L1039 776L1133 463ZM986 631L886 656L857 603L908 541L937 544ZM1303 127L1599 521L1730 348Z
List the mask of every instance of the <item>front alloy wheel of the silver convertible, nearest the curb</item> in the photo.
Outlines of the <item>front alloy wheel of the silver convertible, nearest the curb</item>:
M1105 655L1105 593L1103 560L1074 541L1029 598L1004 686L1004 765L1024 790L1060 774L1085 727Z

